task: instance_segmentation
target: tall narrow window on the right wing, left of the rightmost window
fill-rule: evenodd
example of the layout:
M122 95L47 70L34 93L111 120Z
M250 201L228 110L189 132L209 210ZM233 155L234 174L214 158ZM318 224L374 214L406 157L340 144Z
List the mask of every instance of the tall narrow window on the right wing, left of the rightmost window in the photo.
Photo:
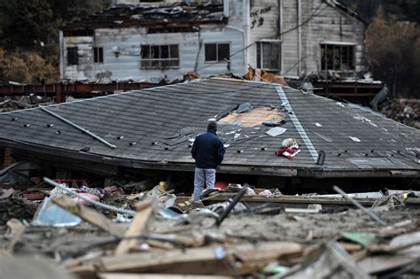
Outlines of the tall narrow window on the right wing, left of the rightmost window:
M281 51L280 42L257 43L257 67L267 71L280 71Z

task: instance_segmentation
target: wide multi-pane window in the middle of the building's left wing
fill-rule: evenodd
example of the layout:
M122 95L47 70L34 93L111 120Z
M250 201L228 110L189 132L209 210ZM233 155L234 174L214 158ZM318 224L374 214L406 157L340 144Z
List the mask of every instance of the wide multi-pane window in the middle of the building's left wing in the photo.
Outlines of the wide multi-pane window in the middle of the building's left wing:
M142 68L159 69L179 66L179 50L177 44L142 45Z

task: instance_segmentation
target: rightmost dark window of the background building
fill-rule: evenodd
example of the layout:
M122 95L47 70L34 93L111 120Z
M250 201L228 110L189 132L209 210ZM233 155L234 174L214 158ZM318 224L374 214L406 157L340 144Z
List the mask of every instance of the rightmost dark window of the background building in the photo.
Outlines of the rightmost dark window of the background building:
M354 71L354 45L321 44L321 70Z

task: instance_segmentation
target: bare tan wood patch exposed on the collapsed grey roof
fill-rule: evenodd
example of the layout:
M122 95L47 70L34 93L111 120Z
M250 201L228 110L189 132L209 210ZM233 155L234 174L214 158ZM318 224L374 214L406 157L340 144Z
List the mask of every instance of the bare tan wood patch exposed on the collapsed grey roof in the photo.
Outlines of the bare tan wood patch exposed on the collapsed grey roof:
M284 120L284 112L269 106L255 107L249 112L230 113L220 121L225 123L234 123L240 121L241 127L254 127L261 125L262 122L276 122Z

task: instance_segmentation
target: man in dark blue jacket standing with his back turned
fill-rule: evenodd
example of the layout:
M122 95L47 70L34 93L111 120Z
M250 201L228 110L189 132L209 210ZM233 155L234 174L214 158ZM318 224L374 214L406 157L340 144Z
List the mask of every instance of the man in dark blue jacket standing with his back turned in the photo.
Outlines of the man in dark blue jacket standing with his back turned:
M222 140L216 135L217 122L209 121L207 132L197 136L192 144L192 158L196 160L194 174L193 202L198 202L206 183L206 189L214 187L216 180L216 167L222 163L224 146Z

